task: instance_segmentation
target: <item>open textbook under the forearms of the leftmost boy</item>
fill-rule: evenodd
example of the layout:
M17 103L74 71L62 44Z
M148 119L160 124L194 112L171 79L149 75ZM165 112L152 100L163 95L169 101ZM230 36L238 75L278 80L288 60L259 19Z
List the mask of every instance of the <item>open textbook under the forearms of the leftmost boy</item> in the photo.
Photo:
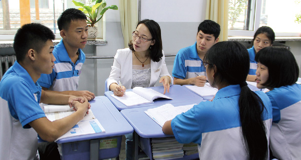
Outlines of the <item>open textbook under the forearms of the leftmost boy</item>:
M44 112L49 121L55 121L67 117L75 111L73 110L73 108L70 108L69 105L44 105ZM70 129L63 136L55 140L55 142L67 137L101 132L105 132L105 129L95 118L92 110L89 109L89 114L86 114L81 121L79 121L72 129Z

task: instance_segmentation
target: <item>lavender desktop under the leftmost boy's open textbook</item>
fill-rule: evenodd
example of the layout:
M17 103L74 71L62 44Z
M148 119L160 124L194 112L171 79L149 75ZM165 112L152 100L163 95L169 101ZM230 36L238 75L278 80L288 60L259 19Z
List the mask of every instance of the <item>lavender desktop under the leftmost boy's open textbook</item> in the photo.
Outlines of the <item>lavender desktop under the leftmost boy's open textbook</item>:
M95 133L88 135L81 135L75 137L69 137L57 141L57 143L67 143L91 139L99 139L104 137L120 136L133 133L133 127L122 116L122 114L116 109L112 102L105 96L95 97L90 101L91 110L94 116L98 119L100 124L106 130L103 133Z

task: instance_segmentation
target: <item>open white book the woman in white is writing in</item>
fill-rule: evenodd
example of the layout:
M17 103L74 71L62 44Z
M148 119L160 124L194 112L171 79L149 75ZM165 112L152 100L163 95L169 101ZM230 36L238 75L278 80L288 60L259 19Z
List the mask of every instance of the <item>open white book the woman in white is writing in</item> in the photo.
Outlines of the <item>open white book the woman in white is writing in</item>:
M133 91L126 91L126 94L122 97L111 95L118 101L122 102L126 106L142 105L147 103L153 103L154 99L166 98L172 99L168 96L163 95L151 88L135 87Z

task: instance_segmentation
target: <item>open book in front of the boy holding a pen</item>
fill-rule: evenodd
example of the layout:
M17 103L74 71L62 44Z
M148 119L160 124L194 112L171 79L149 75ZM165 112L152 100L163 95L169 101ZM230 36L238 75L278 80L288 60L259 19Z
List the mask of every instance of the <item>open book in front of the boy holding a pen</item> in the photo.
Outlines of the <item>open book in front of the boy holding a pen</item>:
M195 85L189 85L186 87L201 97L214 96L218 91L218 89L211 87L209 83L206 83L204 87L198 87Z

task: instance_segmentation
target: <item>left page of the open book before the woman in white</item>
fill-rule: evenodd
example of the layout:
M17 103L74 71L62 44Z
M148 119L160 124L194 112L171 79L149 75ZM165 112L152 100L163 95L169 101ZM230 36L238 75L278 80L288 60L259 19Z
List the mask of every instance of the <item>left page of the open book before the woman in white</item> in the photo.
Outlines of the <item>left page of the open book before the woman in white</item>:
M112 94L111 96L116 98L118 101L125 104L126 106L135 106L152 103L150 100L147 100L146 98L132 91L127 91L126 94L122 97L115 96L114 94Z

